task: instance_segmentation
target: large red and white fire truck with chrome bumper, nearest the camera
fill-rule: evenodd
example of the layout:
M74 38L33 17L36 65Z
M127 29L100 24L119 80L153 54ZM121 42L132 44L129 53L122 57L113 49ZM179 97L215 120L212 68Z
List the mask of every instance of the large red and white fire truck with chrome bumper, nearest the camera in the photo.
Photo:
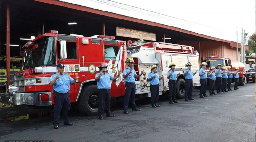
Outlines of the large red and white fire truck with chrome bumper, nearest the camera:
M175 62L177 72L183 74L187 62L192 63L193 71L199 70L199 54L191 46L163 42L145 43L142 40L130 42L114 40L113 36L84 37L82 35L63 35L58 31L49 31L26 43L22 67L15 74L15 86L8 86L8 93L1 94L1 102L13 105L28 105L33 108L47 107L54 104L54 94L49 79L55 73L57 64L65 65L65 72L72 78L79 79L70 85L70 101L77 103L83 114L98 113L98 90L94 80L101 62L108 63L108 73L115 76L118 70L126 68L126 59L133 57L137 73L145 73L136 79L136 94L150 97L150 85L146 81L151 66L158 66L158 73L163 76L160 95L169 90L167 72L171 61ZM130 44L131 43L131 44ZM199 75L194 76L193 86L199 86ZM125 82L122 75L112 81L111 97L123 97ZM185 93L185 78L177 79L177 96Z

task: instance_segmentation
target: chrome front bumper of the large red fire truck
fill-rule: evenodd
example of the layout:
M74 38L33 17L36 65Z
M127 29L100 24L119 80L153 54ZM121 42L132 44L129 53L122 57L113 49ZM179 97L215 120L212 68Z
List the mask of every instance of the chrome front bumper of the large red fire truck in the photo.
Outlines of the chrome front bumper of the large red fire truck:
M40 94L49 94L48 101L40 101ZM0 93L0 101L12 105L33 105L33 106L51 106L52 93Z

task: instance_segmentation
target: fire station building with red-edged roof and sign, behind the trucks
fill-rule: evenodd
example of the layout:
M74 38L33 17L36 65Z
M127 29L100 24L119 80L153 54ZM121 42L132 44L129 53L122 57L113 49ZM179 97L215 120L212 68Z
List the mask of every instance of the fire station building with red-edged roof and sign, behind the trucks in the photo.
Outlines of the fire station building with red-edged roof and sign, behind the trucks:
M68 2L65 2L68 1ZM144 39L148 42L168 42L193 46L200 59L216 54L236 60L236 42L227 41L193 31L120 14L127 6L94 7L95 1L70 0L1 0L1 55L20 56L20 47L49 30L59 34L115 36L116 40ZM97 4L96 4L97 5ZM112 6L112 7L111 7ZM116 12L109 12L114 9ZM138 11L141 12L141 11ZM118 14L119 13L119 14ZM132 14L131 14L132 15ZM133 14L134 15L134 14ZM240 60L238 44L238 60ZM246 46L248 50L248 46Z

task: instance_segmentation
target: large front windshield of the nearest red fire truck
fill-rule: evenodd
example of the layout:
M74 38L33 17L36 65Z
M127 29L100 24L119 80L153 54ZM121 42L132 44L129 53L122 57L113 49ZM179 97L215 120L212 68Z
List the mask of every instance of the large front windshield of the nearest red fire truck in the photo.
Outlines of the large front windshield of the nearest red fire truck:
M43 37L33 42L24 53L23 70L41 65L56 65L55 37Z

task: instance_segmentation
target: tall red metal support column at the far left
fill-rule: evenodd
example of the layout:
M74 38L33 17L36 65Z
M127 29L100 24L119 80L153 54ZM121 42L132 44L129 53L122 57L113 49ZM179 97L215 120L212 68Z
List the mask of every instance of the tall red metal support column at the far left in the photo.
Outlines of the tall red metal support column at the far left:
M6 2L6 67L7 86L10 85L10 5Z

